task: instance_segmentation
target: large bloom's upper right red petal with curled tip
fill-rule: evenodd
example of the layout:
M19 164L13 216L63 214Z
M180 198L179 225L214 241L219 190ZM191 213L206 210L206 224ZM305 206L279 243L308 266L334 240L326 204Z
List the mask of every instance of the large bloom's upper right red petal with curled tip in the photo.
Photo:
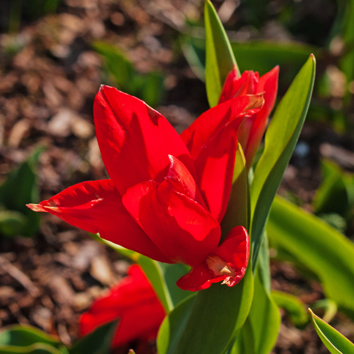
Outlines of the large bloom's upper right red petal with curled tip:
M194 158L201 195L218 222L229 201L237 129L243 117L257 112L262 104L261 95L237 97L209 109L182 133Z

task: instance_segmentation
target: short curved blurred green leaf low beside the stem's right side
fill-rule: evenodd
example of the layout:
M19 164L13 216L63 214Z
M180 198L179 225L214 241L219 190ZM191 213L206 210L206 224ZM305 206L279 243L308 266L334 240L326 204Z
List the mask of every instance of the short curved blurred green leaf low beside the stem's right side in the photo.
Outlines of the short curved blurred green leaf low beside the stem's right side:
M282 291L273 290L272 296L278 307L285 309L291 323L297 328L304 328L308 323L304 303L296 296Z

